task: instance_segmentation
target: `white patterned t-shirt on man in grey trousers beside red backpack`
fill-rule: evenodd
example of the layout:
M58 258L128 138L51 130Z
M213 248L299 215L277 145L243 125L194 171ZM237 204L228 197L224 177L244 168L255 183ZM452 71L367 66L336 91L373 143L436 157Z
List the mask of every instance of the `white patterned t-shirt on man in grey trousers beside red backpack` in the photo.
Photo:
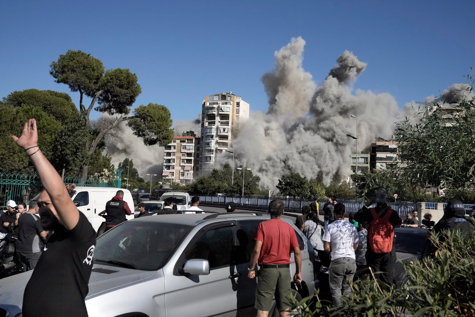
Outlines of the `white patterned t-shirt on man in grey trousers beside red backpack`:
M332 259L355 259L353 243L358 242L358 231L346 220L337 220L329 224L323 234L323 241L330 242Z

